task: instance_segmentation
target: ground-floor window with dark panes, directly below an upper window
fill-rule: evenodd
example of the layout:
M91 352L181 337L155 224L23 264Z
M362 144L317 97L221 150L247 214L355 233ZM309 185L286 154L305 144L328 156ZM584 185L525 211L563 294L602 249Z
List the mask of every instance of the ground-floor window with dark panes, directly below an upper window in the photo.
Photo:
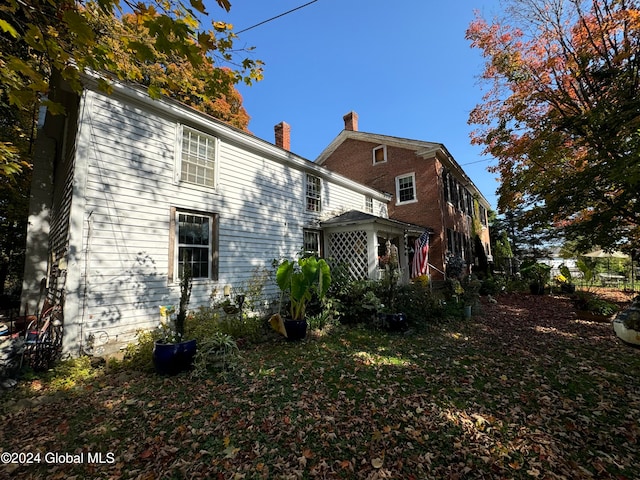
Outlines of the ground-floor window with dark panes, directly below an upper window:
M169 279L181 278L185 266L194 279L218 278L218 215L171 209Z

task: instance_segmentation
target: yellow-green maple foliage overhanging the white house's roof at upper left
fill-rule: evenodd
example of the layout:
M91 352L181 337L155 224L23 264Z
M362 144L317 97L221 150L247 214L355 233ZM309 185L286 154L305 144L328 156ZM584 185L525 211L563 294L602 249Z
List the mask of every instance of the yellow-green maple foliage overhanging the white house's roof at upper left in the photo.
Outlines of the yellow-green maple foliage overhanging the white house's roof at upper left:
M201 0L8 0L0 6L0 102L32 116L41 105L61 113L47 98L53 73L80 92L81 72L90 69L101 72L107 92L110 81L125 80L146 85L154 98L170 94L209 113L220 99L239 111L233 85L259 80L261 62L236 58L230 25L213 21L201 29L206 15ZM11 140L0 142L0 174L19 171L28 157Z

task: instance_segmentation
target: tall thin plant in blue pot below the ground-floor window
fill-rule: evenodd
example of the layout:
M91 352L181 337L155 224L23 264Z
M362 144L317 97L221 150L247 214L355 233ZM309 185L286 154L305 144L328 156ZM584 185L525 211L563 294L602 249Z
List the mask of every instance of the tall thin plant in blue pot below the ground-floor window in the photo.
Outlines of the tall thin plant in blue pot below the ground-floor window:
M184 262L180 277L180 304L175 315L175 307L160 307L163 317L162 338L153 346L153 365L161 375L175 375L190 370L196 354L196 340L185 340L185 321L191 298L192 274L189 263Z

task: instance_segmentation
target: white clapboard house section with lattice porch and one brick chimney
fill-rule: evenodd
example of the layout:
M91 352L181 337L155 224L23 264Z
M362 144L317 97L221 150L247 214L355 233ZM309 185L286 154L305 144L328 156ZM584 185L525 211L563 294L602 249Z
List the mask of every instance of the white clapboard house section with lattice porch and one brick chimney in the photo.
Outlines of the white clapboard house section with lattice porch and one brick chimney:
M400 250L419 228L389 220L389 196L295 155L289 130L269 143L143 88L105 94L86 75L43 113L34 154L23 313L42 288L63 299L64 348L108 351L159 324L177 304L181 262L194 273L191 307L303 248L378 275L387 239ZM267 288L277 296L274 285Z

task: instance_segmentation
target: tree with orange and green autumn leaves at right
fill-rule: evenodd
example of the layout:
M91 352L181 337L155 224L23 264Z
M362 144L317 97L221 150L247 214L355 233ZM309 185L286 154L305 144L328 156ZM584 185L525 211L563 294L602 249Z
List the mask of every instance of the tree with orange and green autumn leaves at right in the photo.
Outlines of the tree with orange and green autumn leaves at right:
M508 0L467 39L489 84L472 142L498 160L499 209L580 246L640 246L640 9L630 0Z

